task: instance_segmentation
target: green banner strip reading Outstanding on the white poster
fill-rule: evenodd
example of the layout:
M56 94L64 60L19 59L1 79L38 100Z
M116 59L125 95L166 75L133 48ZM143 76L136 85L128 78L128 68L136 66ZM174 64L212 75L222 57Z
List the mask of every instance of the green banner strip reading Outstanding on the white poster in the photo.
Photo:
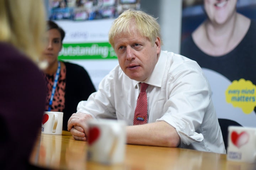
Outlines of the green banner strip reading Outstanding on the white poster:
M59 59L117 59L108 42L63 44Z

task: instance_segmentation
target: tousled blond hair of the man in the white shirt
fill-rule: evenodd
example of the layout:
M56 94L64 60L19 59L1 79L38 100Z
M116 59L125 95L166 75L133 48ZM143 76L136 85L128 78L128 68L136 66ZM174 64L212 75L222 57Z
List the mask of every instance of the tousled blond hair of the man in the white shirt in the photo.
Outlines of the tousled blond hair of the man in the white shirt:
M114 38L121 34L132 35L133 31L138 31L142 36L148 38L154 45L157 37L161 39L160 26L154 18L143 11L129 9L116 18L108 33L108 40L114 47ZM136 30L131 27L135 26Z

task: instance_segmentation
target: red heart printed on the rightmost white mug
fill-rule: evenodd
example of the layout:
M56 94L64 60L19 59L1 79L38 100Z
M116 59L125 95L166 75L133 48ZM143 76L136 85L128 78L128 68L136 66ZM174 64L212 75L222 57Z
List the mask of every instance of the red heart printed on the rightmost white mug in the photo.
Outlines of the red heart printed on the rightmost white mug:
M242 131L240 134L235 131L231 133L231 141L238 148L245 145L249 141L249 137L250 135L245 131Z

